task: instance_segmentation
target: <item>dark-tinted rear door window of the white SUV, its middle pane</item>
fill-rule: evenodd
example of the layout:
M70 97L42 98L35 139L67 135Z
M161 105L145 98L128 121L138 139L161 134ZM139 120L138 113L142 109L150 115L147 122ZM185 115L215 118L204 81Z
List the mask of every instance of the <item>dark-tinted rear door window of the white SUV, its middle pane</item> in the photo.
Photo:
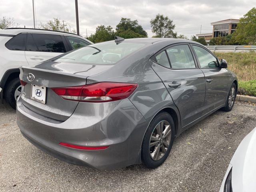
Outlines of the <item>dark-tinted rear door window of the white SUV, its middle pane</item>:
M27 51L66 52L60 35L28 34Z

